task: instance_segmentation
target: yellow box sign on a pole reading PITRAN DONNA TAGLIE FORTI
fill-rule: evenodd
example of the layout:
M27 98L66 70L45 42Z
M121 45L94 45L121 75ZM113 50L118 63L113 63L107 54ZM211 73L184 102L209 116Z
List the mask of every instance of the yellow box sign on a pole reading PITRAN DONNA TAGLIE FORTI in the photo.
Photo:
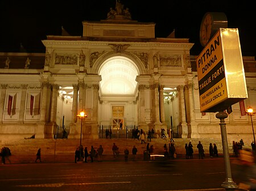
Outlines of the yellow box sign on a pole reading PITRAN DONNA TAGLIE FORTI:
M196 67L201 112L223 111L247 98L238 29L220 28L197 57ZM230 86L234 83L240 88Z

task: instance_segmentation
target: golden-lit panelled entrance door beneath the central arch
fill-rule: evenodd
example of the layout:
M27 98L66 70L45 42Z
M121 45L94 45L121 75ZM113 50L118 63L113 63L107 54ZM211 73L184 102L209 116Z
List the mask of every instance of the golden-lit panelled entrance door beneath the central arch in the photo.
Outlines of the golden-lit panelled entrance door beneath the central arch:
M113 129L119 129L119 126L123 121L123 111L124 107L123 106L113 106L112 107L112 126Z

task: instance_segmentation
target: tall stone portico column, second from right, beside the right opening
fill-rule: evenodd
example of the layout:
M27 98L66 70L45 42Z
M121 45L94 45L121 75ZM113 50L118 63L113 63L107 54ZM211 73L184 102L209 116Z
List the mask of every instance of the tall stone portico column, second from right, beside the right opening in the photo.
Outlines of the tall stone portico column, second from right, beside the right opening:
M181 135L181 138L188 138L188 126L186 122L186 113L185 113L184 86L178 86L177 91L179 94L179 116L180 116L179 135Z

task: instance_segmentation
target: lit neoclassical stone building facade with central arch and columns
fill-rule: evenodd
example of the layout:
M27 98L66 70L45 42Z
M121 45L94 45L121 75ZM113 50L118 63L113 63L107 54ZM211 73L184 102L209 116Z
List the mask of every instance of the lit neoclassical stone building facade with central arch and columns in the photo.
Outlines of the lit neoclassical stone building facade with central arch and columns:
M189 39L155 37L155 23L131 20L129 11L82 22L82 36L47 36L46 53L0 53L0 138L122 137L133 128L176 138L221 138L216 113L201 113L196 56ZM249 99L232 105L229 141L253 140L256 108L253 57L243 57ZM239 88L239 87L238 87ZM242 107L244 105L244 108ZM84 111L86 118L77 117ZM122 122L123 130L119 130Z

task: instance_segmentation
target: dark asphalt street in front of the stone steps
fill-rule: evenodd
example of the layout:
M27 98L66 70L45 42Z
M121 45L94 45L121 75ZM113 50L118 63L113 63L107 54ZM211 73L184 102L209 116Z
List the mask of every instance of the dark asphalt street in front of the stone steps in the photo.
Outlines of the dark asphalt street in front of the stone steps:
M0 172L5 191L224 190L221 184L225 181L223 158L6 164L0 165Z

